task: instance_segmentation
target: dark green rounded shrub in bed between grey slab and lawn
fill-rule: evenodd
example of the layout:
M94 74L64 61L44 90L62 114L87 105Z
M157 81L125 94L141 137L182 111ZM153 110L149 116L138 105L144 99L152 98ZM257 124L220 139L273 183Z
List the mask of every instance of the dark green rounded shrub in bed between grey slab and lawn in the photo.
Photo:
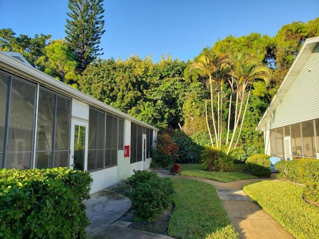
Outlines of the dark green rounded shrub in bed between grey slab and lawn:
M171 205L174 189L169 178L154 177L149 181L138 183L132 193L134 213L149 221L156 218Z

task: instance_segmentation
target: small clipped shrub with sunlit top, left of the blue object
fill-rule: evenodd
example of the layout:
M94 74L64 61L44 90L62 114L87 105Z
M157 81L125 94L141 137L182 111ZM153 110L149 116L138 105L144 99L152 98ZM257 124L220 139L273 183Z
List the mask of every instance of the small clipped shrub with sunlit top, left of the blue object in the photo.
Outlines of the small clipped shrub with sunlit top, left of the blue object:
M247 169L257 177L270 177L270 156L265 154L254 154L247 158Z

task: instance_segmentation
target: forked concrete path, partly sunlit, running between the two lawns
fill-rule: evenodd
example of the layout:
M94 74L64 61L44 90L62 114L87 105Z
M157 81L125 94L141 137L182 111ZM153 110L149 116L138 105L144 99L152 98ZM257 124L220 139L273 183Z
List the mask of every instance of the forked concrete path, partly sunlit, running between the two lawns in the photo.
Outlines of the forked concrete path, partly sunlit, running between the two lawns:
M157 172L160 177L168 176L168 171L165 170L152 171ZM274 180L276 178L274 173L269 179L246 179L230 183L186 176L177 177L195 179L213 185L240 239L295 239L242 190L249 183Z

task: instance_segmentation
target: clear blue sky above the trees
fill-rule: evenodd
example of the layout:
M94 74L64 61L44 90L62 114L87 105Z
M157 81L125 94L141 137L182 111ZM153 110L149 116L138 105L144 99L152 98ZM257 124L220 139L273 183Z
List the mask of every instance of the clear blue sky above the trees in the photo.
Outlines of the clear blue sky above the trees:
M65 37L67 0L0 0L0 29ZM319 0L104 0L102 59L161 54L187 61L228 35L275 36L285 24L319 17Z

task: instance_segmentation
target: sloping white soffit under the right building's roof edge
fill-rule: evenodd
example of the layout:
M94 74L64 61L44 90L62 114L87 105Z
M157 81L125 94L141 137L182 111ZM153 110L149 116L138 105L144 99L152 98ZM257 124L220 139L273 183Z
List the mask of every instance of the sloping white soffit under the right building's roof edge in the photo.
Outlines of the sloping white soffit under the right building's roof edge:
M319 37L314 37L307 39L298 53L293 65L290 67L285 79L281 83L280 87L267 110L265 111L263 118L259 121L256 131L264 131L267 122L271 119L273 113L276 108L280 105L282 99L286 95L287 91L299 75L300 71L303 69L305 64L307 63L309 57L313 53L317 44L319 43Z

